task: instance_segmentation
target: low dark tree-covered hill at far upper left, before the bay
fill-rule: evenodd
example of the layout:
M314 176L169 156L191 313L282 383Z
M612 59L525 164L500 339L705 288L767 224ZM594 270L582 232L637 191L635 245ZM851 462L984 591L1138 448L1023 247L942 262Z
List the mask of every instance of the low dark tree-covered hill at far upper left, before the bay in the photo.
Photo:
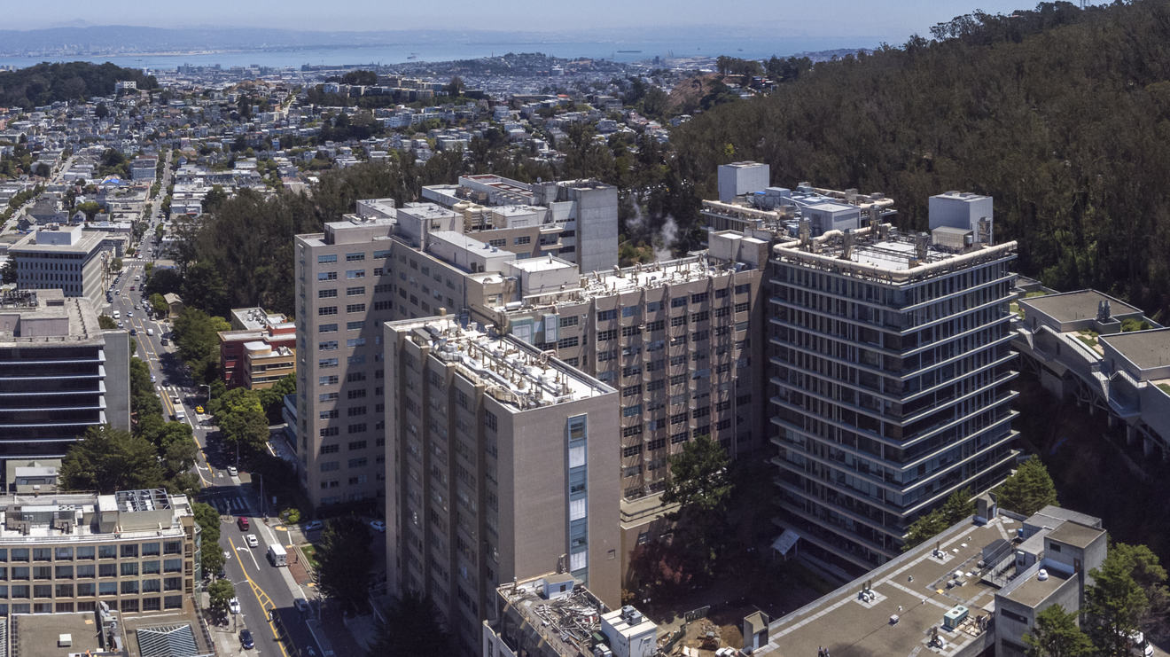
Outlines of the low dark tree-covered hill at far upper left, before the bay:
M109 62L39 63L14 71L0 73L0 107L30 110L58 101L88 100L113 94L113 84L133 81L139 89L158 88L154 76L122 68Z

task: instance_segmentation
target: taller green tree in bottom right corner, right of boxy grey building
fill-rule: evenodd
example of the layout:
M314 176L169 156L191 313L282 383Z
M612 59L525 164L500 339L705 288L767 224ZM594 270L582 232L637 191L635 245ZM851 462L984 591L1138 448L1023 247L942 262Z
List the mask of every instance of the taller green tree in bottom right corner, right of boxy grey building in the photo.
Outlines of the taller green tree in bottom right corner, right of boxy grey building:
M1113 546L1100 568L1089 570L1093 584L1085 588L1085 611L1093 620L1089 636L1102 655L1127 655L1130 636L1140 630L1149 604L1134 579L1134 555Z

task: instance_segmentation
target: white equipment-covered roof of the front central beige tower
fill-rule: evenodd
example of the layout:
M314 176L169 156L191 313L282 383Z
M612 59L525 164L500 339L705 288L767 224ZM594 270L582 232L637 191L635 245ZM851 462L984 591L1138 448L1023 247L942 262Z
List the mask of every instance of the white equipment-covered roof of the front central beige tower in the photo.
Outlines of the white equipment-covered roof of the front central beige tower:
M498 391L496 399L519 411L614 392L613 388L511 336L455 317L402 320L386 326L405 331L431 355L455 363L460 375ZM489 333L490 331L490 333Z

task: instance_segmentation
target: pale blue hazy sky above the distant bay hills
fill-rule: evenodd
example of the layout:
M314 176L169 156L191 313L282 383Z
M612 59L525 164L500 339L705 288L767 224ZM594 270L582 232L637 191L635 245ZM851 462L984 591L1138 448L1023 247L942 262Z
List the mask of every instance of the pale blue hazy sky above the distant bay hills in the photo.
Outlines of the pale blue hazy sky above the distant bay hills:
M1030 9L1014 0L4 0L4 29L60 27L68 21L146 27L269 27L298 30L577 29L737 27L777 36L872 36L904 40L927 35L937 22L976 8L987 13ZM901 41L897 41L901 42Z

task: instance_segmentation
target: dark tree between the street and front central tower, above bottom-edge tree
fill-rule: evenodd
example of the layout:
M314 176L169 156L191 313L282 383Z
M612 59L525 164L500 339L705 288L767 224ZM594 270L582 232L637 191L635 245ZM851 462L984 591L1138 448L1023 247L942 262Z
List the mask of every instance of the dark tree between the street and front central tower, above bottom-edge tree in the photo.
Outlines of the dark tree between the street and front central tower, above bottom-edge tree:
M365 607L370 570L374 564L373 538L359 518L336 518L325 525L317 542L314 579L323 595L336 598L345 610Z

